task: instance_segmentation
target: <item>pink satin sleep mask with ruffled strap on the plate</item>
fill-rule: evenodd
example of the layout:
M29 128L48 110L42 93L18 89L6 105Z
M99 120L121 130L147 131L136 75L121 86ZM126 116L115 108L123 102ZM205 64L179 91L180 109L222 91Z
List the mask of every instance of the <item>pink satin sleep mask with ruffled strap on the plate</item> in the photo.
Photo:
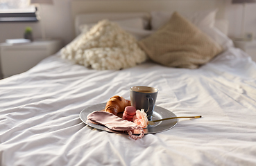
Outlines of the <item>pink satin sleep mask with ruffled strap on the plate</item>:
M106 111L94 111L89 113L87 120L90 120L96 124L104 125L108 129L116 131L128 131L130 138L138 140L144 136L144 130L142 127L137 126L134 122L129 122L128 120L123 120L118 116L115 116L113 113ZM139 136L135 136L132 133L132 130L139 129L142 133Z

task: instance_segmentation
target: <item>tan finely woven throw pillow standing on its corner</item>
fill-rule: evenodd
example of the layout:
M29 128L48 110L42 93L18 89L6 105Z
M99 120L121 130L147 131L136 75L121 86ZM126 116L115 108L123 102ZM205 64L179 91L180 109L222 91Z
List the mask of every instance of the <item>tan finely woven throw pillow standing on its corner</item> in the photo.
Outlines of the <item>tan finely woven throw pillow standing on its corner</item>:
M198 68L222 51L219 44L178 12L153 35L139 41L139 46L153 61L180 68Z

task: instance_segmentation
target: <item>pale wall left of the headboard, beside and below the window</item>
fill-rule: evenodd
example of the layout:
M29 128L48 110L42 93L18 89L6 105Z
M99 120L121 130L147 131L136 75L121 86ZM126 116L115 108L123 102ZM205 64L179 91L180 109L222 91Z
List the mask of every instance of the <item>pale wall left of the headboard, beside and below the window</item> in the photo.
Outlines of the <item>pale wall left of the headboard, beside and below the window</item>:
M42 38L41 24L44 23L46 37L60 38L65 44L74 38L70 12L71 0L54 0L53 6L42 5L42 21L0 23L0 42L6 39L23 38L26 26L33 28L34 38Z

